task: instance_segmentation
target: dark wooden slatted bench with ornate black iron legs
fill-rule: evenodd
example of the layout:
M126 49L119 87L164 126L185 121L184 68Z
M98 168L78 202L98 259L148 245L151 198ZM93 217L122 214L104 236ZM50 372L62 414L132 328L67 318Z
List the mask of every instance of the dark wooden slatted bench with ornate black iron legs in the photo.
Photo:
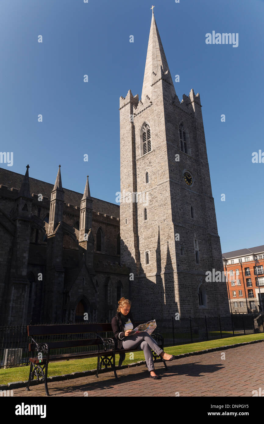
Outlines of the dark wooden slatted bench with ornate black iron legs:
M136 322L135 326L139 324L142 323ZM106 332L106 335L109 332L111 337L101 337L99 333L102 332ZM96 337L87 338L86 335L91 333L92 335L95 334ZM84 338L85 336L86 338ZM115 379L118 381L115 355L119 354L120 363L121 354L137 351L137 349L116 348L111 323L29 325L28 337L28 351L31 352L31 357L29 358L30 371L26 390L30 390L29 386L34 377L36 377L37 383L39 383L39 378L41 378L41 382L44 382L47 396L50 396L47 388L47 371L50 362L97 357L97 371L95 377L98 378L98 373L102 366L104 366L105 369L111 367L111 370L114 371ZM151 337L156 340L158 346L163 350L163 337L158 333L152 333ZM50 338L55 340L49 341ZM60 340L61 338L64 338L64 340ZM89 346L93 346L93 350L89 350ZM84 351L65 353L65 350L67 351L70 348L83 348ZM56 352L51 352L54 349L56 349ZM61 350L63 353L58 353L58 351L60 352ZM152 354L153 360L156 361L156 353L152 351ZM163 363L167 369L165 361L163 361Z

